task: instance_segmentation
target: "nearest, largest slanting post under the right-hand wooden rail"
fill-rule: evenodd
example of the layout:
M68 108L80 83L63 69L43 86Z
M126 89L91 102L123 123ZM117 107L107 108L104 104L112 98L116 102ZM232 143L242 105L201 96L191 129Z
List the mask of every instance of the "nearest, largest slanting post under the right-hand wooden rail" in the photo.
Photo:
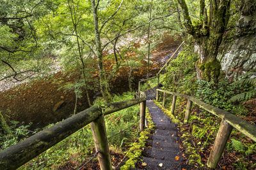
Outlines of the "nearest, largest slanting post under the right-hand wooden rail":
M208 167L216 168L232 129L233 127L228 124L224 119L222 119L220 129L218 131L218 134L214 141L214 145L212 146L212 151L207 161Z

